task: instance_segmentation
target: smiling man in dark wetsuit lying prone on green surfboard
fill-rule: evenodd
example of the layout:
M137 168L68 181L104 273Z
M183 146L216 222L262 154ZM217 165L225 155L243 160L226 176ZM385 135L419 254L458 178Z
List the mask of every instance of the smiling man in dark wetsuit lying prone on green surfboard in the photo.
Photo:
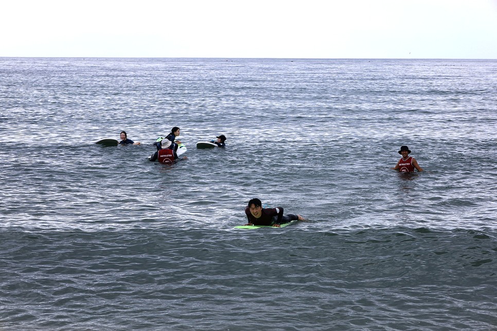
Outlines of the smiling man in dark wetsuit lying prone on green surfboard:
M257 198L249 201L249 204L245 207L245 215L249 219L249 223L245 225L265 225L278 228L282 223L289 223L292 220L304 220L304 217L300 215L283 215L282 207L262 208L262 203Z

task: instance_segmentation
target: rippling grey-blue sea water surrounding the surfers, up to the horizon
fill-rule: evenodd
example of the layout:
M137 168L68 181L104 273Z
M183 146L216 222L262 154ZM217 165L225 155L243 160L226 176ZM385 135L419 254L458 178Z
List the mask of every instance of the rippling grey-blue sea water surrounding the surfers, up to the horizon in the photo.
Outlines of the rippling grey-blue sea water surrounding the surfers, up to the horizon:
M497 328L497 61L0 73L0 329ZM173 126L188 159L149 162ZM307 220L234 229L253 197Z

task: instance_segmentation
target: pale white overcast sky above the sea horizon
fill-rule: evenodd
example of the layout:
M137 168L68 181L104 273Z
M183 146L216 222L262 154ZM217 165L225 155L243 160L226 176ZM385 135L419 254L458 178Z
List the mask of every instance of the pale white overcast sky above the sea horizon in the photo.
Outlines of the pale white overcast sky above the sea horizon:
M497 0L2 2L0 57L497 59Z

